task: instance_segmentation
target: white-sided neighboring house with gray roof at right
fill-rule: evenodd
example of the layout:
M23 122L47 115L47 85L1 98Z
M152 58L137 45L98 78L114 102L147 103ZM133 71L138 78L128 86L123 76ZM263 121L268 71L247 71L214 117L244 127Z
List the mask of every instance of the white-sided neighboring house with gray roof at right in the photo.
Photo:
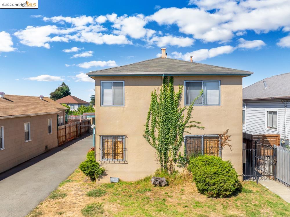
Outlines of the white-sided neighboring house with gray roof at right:
M243 132L290 138L290 73L263 79L243 89ZM283 145L283 144L282 144Z

